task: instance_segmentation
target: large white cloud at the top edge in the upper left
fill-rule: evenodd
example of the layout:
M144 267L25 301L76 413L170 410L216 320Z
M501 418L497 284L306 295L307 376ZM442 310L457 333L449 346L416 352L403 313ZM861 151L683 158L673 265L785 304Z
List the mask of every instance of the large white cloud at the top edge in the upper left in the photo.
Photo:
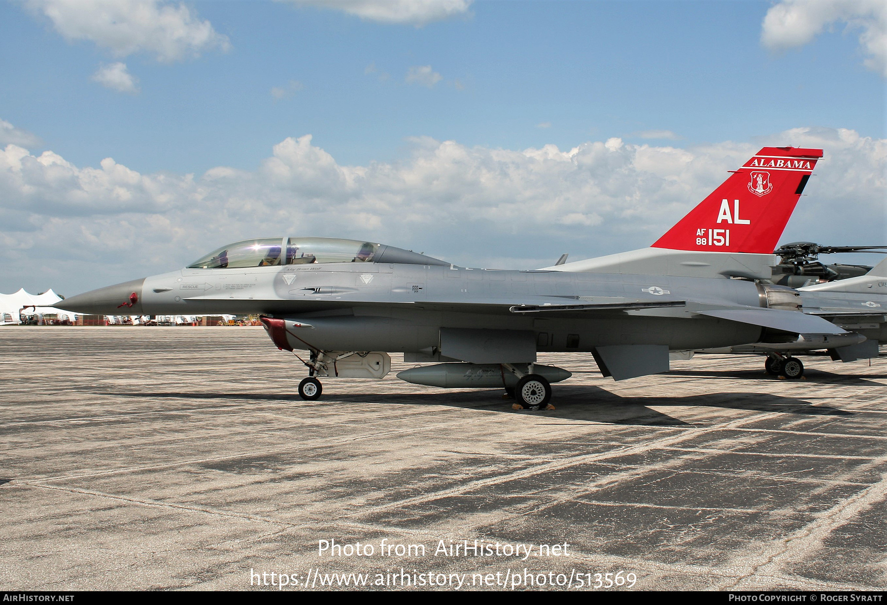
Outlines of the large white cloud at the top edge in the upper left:
M159 0L27 0L68 41L89 40L115 57L145 52L169 63L205 50L227 50L227 36L185 4Z

